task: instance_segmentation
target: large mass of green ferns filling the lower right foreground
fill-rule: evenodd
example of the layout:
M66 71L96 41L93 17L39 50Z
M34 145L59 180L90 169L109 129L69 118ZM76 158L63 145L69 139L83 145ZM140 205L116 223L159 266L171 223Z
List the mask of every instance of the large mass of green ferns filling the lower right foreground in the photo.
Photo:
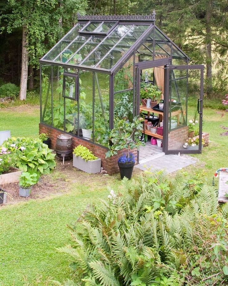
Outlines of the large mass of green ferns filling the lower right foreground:
M228 204L218 208L212 187L160 172L122 188L71 228L73 245L59 249L74 258L66 285L227 284Z

